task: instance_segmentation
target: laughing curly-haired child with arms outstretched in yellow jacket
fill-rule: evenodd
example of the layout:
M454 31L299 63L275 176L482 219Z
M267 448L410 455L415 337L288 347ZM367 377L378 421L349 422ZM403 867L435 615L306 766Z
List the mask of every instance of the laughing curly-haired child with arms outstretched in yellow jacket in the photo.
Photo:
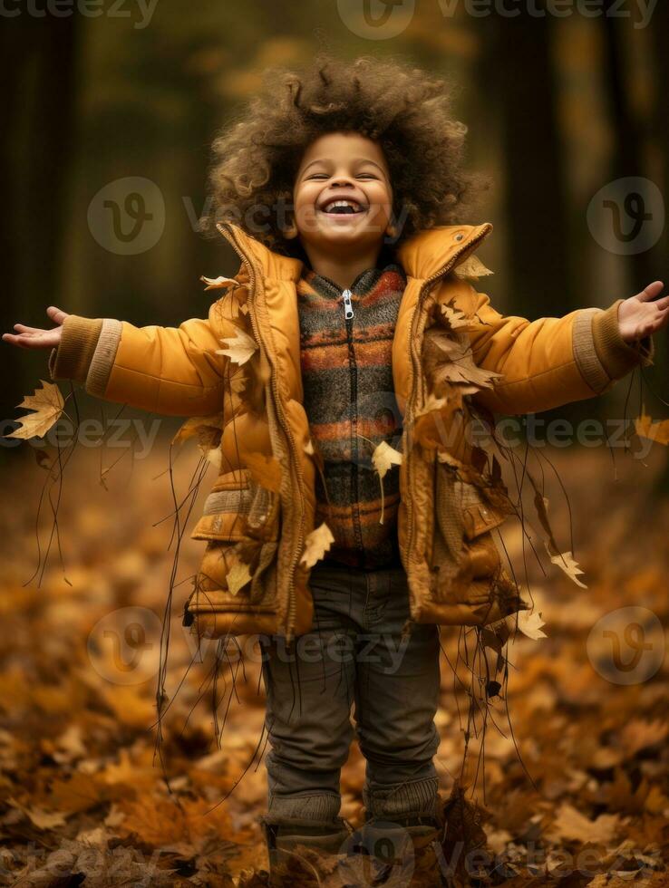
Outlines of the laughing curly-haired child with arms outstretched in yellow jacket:
M606 310L497 313L468 281L492 227L458 222L480 185L465 131L444 84L402 64L279 72L215 142L211 217L241 265L209 282L224 294L207 319L137 328L50 307L52 330L3 336L53 348L52 379L108 401L222 412L184 623L261 633L272 864L346 843L352 703L369 835L420 864L440 823L438 627L527 607L492 541L508 509L471 420L607 391L652 362L669 319L661 282Z

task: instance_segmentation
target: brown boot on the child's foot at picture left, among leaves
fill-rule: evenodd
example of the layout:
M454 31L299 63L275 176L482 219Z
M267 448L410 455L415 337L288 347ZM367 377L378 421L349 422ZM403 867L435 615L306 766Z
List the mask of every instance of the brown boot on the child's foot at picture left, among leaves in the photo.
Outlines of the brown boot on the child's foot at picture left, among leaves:
M269 884L273 888L298 883L318 885L318 856L344 854L353 830L342 817L305 820L301 817L260 818L269 858ZM315 854L309 854L314 850Z

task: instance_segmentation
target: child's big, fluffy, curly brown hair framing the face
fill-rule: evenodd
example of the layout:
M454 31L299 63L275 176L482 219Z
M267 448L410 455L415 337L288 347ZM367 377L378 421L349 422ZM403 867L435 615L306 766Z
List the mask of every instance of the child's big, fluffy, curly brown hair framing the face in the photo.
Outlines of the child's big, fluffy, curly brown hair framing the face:
M393 185L397 242L462 221L490 180L463 167L467 126L451 117L453 88L395 59L353 62L318 53L302 71L269 69L265 87L212 145L208 211L200 231L236 222L286 256L303 256L282 233L306 148L329 132L358 132L383 150Z

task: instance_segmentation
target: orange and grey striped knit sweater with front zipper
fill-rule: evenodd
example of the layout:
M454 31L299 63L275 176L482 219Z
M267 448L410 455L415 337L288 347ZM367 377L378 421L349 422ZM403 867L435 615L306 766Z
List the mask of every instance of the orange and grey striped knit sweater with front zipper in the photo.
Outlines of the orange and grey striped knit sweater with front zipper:
M335 542L325 561L364 568L400 565L399 471L383 478L372 465L382 440L400 447L391 349L406 286L401 265L369 268L350 287L354 316L344 318L341 287L305 267L297 283L302 379L312 439L324 460L316 478L316 524Z

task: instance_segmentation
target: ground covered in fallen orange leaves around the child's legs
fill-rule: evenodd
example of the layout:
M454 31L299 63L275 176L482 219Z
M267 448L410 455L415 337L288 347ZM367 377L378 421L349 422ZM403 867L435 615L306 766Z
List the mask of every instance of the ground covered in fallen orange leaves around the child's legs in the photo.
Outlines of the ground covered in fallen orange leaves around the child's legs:
M527 565L534 616L540 613L530 626L546 637L518 632L509 640L504 699L489 686L480 706L480 682L472 686L461 662L454 676L474 631L441 632L437 767L444 802L458 777L464 787L451 796L442 860L459 836L490 854L478 875L461 873L453 884L669 884L669 505L650 497L666 455L655 451L642 465L618 450L617 480L606 449L551 452L567 488L573 539L563 492L547 470L549 514L587 589L550 564L530 490L526 529L543 569L527 539L523 552L518 522L509 522L504 543L521 584ZM181 541L169 644L163 636L160 655L177 544L167 452L159 439L132 471L126 455L102 485L99 450L78 449L64 469L58 536L45 567L48 503L39 551L35 516L50 460L25 444L5 458L2 883L266 883L257 647L242 639L241 660L230 650L228 660L218 651L217 662L215 644L198 652L181 627L204 545L188 531L213 467ZM102 467L120 454L104 451ZM179 501L197 462L196 449L187 447L175 463ZM523 594L529 600L527 588ZM622 610L629 607L635 610ZM480 718L468 719L470 706ZM354 745L342 777L342 815L354 826L362 818L363 775ZM335 864L324 865L319 878L329 886L353 883Z

